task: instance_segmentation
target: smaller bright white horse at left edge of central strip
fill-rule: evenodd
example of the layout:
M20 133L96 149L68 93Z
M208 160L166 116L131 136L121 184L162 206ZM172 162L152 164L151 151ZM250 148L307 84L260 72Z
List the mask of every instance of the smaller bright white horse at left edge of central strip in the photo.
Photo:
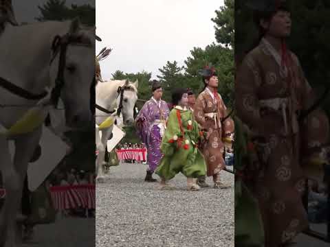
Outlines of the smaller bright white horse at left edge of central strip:
M98 158L96 158L96 180L102 182L104 180L104 154L107 152L106 146L113 125L109 128L101 127L102 123L112 115L122 114L124 125L131 126L134 123L134 106L137 101L138 81L134 83L129 80L111 80L96 85L96 149L98 150ZM117 110L116 110L117 109ZM114 120L113 120L114 121ZM100 138L100 133L102 137Z

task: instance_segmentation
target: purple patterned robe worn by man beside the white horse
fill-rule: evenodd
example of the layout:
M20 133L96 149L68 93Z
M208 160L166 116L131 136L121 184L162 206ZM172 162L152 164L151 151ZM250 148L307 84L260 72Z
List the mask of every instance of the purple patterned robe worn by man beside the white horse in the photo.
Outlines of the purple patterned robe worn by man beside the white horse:
M137 134L143 143L146 144L148 150L147 163L148 170L154 172L162 158L160 144L162 143L161 129L159 128L159 120L167 120L170 110L164 100L160 100L160 108L154 99L148 100L142 107L135 119Z

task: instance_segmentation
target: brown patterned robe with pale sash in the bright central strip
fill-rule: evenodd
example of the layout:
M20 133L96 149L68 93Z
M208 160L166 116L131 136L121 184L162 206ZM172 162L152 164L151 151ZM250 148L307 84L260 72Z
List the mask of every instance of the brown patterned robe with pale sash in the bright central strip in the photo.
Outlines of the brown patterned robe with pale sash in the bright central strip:
M208 167L208 176L219 174L225 167L223 159L225 150L222 139L225 137L225 134L234 132L234 122L230 117L221 123L226 114L226 107L219 93L214 95L214 92L206 88L198 95L194 108L194 117L206 134L203 155Z

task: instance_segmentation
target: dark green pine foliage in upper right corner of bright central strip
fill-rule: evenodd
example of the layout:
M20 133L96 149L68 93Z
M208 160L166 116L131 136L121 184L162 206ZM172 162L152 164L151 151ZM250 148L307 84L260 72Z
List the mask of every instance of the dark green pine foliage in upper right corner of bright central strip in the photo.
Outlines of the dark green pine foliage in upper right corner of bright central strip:
M216 24L215 38L218 43L234 47L234 0L225 0L225 4L216 10L217 17L212 21Z

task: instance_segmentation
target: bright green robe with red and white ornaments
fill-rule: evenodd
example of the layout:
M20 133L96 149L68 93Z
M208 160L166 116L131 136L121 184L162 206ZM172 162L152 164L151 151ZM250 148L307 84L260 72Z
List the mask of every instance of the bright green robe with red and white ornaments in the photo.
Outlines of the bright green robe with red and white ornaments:
M168 124L162 139L164 154L156 174L170 180L181 172L187 178L198 178L206 174L203 155L198 150L199 126L192 112L187 108L175 106L170 111Z

